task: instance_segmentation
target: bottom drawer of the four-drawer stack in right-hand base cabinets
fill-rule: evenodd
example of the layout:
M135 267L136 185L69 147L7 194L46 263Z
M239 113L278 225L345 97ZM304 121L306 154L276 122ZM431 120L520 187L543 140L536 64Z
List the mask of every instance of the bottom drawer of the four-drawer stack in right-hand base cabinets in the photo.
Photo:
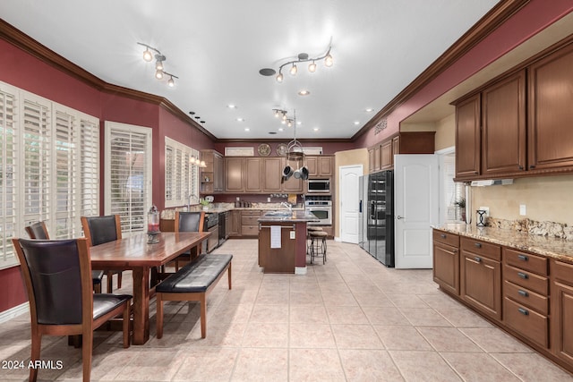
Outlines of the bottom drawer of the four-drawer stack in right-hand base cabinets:
M505 298L503 317L508 327L547 349L549 345L549 319L547 316Z

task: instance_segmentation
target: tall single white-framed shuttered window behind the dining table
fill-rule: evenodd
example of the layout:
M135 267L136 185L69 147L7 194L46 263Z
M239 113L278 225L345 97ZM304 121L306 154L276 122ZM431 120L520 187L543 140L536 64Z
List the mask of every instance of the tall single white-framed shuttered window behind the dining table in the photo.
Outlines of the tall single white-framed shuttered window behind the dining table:
M106 122L106 215L119 215L123 233L144 232L151 199L151 129Z

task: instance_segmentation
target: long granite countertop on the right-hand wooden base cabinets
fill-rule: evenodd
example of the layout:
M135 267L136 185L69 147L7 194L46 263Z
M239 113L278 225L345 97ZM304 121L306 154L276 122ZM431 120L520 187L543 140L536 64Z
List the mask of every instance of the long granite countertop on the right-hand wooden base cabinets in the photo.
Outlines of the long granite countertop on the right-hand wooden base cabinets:
M562 259L568 262L573 261L573 242L560 238L518 232L510 229L476 227L475 225L466 225L465 223L436 225L432 226L432 228L449 233L457 233L461 236L483 240L484 242L504 245L517 250L527 250L545 257Z

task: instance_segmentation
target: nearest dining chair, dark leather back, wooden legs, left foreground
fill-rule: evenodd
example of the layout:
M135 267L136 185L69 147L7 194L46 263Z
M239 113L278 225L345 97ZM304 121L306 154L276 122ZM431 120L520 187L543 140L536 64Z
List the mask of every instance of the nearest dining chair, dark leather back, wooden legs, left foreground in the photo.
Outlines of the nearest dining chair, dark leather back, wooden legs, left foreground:
M30 300L31 356L40 360L42 335L81 335L83 380L90 380L93 331L123 315L124 348L129 347L129 294L91 292L90 247L85 238L13 238ZM38 369L30 369L30 381Z

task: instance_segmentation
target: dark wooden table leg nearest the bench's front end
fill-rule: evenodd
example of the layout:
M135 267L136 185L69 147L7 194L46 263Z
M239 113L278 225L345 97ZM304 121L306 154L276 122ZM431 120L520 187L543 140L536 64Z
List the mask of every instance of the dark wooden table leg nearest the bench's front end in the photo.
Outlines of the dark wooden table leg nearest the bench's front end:
M133 269L133 344L150 339L150 268Z

